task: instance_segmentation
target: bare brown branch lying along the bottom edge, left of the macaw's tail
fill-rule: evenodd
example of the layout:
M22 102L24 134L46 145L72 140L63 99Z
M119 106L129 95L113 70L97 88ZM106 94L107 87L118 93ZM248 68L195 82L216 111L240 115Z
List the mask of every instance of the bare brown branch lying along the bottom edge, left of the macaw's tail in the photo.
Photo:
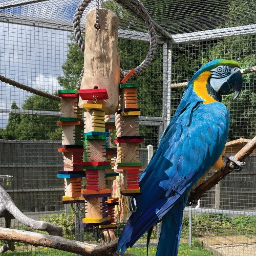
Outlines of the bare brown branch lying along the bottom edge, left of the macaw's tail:
M116 251L118 239L115 239L106 245L95 245L73 241L62 237L50 236L49 234L41 234L36 232L1 227L0 240L11 240L14 242L31 244L34 246L49 247L85 256L120 255L120 253ZM129 256L132 254L124 253L123 255Z

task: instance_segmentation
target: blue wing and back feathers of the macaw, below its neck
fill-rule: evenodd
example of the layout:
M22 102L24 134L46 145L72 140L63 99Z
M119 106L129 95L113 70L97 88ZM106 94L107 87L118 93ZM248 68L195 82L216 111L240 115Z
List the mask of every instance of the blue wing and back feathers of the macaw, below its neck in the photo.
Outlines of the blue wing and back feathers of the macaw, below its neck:
M181 102L140 178L142 195L136 196L137 211L119 238L117 249L121 248L121 253L166 212L170 211L167 216L174 216L174 205L187 200L193 183L221 155L228 126L229 113L222 103ZM181 226L180 221L178 225Z

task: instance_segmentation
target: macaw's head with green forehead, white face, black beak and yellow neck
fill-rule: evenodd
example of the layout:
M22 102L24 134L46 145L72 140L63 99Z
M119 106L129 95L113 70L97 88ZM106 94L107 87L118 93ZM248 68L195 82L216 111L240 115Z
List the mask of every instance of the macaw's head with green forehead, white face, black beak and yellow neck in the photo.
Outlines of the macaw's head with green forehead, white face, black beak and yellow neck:
M234 93L233 99L238 97L243 77L236 61L216 59L198 70L189 83L204 103L221 102L221 95Z

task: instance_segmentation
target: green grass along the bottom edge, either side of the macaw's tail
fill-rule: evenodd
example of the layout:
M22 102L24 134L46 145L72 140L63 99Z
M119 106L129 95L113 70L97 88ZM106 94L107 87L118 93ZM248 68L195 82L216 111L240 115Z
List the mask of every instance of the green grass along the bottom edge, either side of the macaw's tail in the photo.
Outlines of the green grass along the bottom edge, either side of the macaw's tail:
M131 253L134 255L146 255L146 247L135 247L135 248L128 248L126 250L127 253ZM156 255L157 246L150 246L148 248L148 255ZM212 252L209 250L204 249L199 243L193 243L191 247L187 243L181 243L179 246L179 256L213 256Z

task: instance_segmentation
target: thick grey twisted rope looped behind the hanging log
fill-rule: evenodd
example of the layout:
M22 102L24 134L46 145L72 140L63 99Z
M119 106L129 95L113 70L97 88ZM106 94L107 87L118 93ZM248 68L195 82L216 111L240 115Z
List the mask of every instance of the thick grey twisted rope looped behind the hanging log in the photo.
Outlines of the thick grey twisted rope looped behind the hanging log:
M152 62L154 55L157 49L157 40L156 40L156 32L150 17L150 14L147 12L146 8L137 0L125 0L127 3L131 4L135 9L137 9L145 23L147 25L148 33L150 34L150 49L147 52L146 58L140 63L140 65L135 68L135 73L133 75L138 75L142 73ZM81 30L80 30L80 19L82 17L82 13L84 9L88 6L91 0L82 0L75 10L75 14L73 16L73 31L75 34L75 38L78 46L81 48L81 51L84 51L84 40L82 38ZM120 76L125 76L128 74L130 70L124 70L120 72Z

